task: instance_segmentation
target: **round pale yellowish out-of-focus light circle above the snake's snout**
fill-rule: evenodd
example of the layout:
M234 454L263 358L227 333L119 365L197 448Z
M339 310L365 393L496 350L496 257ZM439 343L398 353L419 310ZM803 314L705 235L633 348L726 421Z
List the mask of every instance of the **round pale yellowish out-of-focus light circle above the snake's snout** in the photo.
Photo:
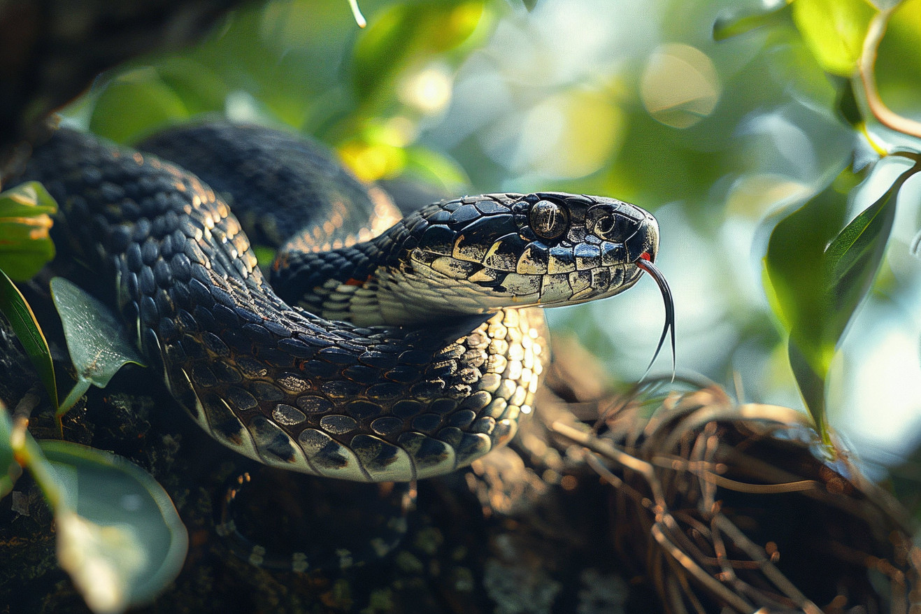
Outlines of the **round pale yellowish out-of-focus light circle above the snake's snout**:
M640 79L643 106L657 122L690 128L717 108L722 91L713 61L680 43L660 45Z

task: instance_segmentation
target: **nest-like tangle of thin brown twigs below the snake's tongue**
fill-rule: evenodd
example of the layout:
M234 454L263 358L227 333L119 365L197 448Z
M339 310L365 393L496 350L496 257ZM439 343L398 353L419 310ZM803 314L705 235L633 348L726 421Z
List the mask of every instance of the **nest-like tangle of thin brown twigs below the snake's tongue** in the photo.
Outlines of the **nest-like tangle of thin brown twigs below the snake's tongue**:
M599 411L547 426L612 487L616 550L666 611L921 611L904 509L803 414L712 385Z

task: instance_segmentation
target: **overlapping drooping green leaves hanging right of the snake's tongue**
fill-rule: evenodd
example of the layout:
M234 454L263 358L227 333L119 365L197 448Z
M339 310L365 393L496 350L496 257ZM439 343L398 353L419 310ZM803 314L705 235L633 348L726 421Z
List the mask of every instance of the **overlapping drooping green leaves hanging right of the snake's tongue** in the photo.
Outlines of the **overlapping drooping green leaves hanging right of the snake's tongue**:
M803 400L826 441L824 387L834 352L880 269L896 195L919 168L915 164L904 171L838 231L844 225L847 194L858 179L847 168L832 185L781 220L768 241L765 287L789 332L790 366Z

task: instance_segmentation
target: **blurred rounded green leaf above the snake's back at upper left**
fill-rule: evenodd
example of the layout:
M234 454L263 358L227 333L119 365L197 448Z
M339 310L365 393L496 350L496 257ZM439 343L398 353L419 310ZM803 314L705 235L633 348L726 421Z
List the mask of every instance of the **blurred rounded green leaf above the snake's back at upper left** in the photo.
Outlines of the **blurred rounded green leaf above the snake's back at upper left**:
M181 98L153 68L139 68L107 83L96 100L89 129L116 143L134 143L154 129L189 117Z

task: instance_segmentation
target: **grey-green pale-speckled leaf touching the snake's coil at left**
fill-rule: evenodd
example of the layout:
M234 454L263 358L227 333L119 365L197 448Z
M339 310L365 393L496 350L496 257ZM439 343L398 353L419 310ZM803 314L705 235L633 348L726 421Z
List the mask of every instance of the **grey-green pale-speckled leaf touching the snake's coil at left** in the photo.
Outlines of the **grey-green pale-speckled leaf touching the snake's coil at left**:
M144 366L144 358L118 319L93 296L62 277L51 282L52 298L64 325L67 350L76 368L79 394L68 395L59 414L73 406L89 383L105 388L122 365Z

